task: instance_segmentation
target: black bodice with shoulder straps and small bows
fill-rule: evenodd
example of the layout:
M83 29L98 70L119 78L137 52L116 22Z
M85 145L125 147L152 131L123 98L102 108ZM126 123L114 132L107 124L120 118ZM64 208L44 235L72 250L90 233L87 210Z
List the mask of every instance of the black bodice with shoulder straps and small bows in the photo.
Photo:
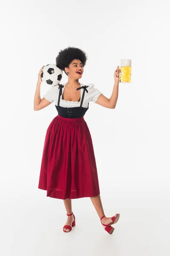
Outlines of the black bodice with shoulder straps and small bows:
M86 89L88 85L77 88L77 90L84 89L82 94L82 100L80 103L80 107L72 107L72 108L69 108L69 107L65 108L65 107L59 106L60 97L62 96L62 88L64 87L64 85L62 84L58 84L58 85L59 85L59 97L58 97L58 104L55 105L55 107L57 109L59 116L66 117L66 118L79 118L84 116L88 108L82 107L82 102L85 96L85 91L88 93L88 90Z

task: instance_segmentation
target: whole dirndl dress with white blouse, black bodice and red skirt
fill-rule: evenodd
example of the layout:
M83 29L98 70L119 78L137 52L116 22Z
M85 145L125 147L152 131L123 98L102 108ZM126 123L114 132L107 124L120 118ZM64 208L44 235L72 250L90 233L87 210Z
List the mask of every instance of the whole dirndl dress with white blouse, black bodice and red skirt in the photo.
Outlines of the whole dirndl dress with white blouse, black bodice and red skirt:
M65 83L66 84L66 83ZM58 199L94 197L100 194L91 134L84 115L89 102L103 94L94 84L78 87L78 102L60 99L65 84L51 87L44 95L55 102L58 115L48 126L42 152L39 189Z

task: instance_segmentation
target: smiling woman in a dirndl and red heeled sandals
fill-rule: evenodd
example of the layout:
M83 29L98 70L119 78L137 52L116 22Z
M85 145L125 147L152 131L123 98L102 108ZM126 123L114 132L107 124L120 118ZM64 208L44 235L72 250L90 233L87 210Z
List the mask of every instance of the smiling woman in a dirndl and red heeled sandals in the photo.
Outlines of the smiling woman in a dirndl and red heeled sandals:
M67 211L64 232L75 226L71 199L90 197L101 223L111 234L111 227L119 220L119 214L105 217L99 191L94 148L84 115L93 101L105 108L115 108L118 98L119 68L114 72L114 88L111 98L105 97L94 84L80 84L86 54L79 48L68 47L61 50L56 58L57 67L65 72L68 81L52 86L40 98L40 69L34 96L34 110L47 107L55 102L58 115L48 126L42 153L39 189L47 190L47 196L63 199Z

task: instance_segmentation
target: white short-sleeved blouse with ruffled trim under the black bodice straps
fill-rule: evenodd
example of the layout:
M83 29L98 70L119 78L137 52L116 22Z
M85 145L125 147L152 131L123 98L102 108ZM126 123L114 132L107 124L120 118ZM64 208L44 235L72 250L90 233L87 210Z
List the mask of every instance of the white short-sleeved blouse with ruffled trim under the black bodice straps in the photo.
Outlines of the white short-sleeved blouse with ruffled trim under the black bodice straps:
M62 93L64 91L65 88L65 84L66 83L62 83L62 85L64 85L64 87L62 88ZM99 96L103 93L101 93L97 88L94 88L94 84L87 84L88 87L86 88L86 90L88 90L88 93L85 91L85 96L82 102L82 107L83 108L88 108L88 102L93 101L94 103L96 103L97 99L99 98ZM81 87L85 86L85 84L81 84ZM79 102L74 102L74 101L68 101L68 100L64 100L62 99L62 96L60 97L60 102L59 102L59 106L64 107L64 108L73 108L73 107L79 107L81 100L82 100L82 93L83 93L83 88L80 89L81 91L81 98ZM49 102L54 102L55 105L58 104L58 97L59 97L59 85L57 84L56 86L51 86L51 89L49 89L44 95L43 97L48 100Z

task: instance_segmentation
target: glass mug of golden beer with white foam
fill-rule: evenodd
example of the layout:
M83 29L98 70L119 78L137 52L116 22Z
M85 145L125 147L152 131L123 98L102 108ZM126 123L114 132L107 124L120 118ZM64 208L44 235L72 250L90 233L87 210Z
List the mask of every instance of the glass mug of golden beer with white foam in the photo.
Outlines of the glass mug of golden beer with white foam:
M122 59L120 65L120 74L119 74L119 82L120 83L130 83L131 82L131 60Z

